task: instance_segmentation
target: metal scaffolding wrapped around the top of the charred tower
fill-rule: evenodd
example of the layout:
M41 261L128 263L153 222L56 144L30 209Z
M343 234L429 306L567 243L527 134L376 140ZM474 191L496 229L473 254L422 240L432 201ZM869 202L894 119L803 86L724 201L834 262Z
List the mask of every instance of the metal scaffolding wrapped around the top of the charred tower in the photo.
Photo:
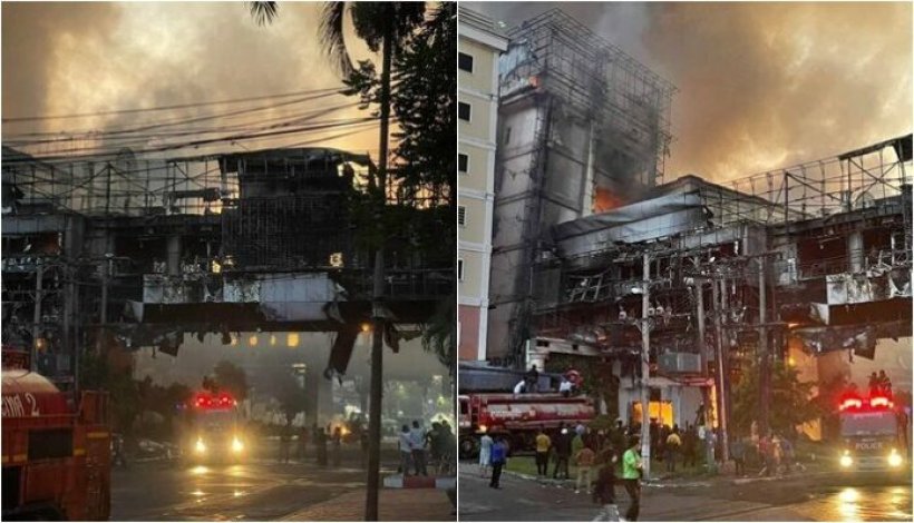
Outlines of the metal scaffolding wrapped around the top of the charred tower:
M675 87L561 9L508 31L502 96L541 87L599 124L600 141L638 164L642 180L663 180ZM620 160L621 161L621 160Z

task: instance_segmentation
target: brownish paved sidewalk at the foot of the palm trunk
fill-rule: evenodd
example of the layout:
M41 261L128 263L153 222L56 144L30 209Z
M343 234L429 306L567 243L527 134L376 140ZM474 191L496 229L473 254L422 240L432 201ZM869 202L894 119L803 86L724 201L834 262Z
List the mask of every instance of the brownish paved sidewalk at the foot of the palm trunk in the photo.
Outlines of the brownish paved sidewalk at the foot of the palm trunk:
M358 490L292 513L280 521L363 521L364 490ZM456 521L454 507L441 490L381 489L379 521Z

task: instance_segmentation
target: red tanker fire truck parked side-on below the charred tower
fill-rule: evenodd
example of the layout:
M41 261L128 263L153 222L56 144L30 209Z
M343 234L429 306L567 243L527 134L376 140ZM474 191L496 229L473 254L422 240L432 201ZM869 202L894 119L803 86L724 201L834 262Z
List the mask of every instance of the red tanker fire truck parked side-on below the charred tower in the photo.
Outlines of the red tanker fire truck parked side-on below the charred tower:
M590 423L596 415L586 396L544 394L468 394L460 403L460 454L475 455L485 433L503 434L513 452L532 450L539 428Z

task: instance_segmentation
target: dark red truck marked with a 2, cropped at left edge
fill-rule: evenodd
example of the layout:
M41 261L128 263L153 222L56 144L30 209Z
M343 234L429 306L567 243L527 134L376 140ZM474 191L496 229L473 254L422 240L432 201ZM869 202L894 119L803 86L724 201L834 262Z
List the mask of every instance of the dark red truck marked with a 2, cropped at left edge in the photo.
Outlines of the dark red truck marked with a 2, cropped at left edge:
M8 357L17 356L11 352L3 347L2 519L107 520L107 394L84 392L79 404L71 406L54 383L28 371L27 354Z

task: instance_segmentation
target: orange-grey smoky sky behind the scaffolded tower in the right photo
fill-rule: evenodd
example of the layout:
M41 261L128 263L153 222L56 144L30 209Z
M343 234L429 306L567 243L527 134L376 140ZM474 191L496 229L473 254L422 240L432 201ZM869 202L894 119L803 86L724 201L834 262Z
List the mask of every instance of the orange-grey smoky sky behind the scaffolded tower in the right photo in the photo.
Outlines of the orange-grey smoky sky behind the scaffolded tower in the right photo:
M508 28L561 7L673 82L668 180L741 178L912 131L911 2L461 4Z

